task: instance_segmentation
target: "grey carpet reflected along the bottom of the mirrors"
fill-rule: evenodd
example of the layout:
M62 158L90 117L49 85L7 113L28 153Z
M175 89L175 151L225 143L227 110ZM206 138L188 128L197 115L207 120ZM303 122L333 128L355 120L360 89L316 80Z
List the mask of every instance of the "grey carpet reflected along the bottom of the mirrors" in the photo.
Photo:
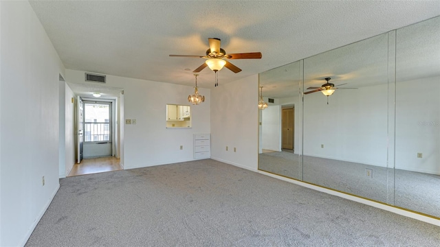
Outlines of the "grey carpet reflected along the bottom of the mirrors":
M312 156L304 156L301 167L298 154L290 152L259 158L263 171L440 217L439 175ZM372 170L372 178L365 176L365 169Z

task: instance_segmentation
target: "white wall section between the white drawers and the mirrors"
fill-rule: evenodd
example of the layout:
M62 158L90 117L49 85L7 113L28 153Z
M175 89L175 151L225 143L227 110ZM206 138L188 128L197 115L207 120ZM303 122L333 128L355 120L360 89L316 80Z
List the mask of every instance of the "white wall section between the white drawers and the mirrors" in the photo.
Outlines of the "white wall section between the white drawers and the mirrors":
M220 84L212 89L211 96L211 157L256 171L259 153L258 75Z

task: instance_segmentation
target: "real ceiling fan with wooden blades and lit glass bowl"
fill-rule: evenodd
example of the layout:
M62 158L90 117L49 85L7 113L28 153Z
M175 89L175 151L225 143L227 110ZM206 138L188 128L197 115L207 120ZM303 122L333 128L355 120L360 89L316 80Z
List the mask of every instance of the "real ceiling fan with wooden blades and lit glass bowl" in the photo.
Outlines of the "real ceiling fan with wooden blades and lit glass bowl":
M206 50L205 56L194 56L194 55L170 55L170 57L189 57L189 58L205 58L207 59L203 64L201 64L197 69L192 71L193 73L199 73L202 69L209 67L215 72L216 80L215 86L218 86L217 82L217 71L226 67L234 73L239 73L241 69L236 67L234 64L230 63L225 59L260 59L261 52L250 52L241 54L226 54L226 51L220 47L220 38L208 38L209 49Z

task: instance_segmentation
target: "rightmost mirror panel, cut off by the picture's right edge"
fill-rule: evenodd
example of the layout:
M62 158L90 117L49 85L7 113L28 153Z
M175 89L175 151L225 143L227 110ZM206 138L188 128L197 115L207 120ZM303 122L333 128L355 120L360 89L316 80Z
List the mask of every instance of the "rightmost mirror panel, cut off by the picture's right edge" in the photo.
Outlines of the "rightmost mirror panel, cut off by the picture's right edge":
M397 30L395 205L440 217L440 17Z

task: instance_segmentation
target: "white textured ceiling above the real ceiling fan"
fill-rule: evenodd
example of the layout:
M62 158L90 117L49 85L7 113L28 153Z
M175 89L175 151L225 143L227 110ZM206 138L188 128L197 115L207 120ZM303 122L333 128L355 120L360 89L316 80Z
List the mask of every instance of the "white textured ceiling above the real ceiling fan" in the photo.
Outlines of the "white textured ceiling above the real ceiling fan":
M208 38L229 54L225 84L440 15L440 1L30 1L66 69L194 85ZM214 87L214 72L199 73ZM80 85L74 91L81 91ZM113 89L109 89L111 91Z

